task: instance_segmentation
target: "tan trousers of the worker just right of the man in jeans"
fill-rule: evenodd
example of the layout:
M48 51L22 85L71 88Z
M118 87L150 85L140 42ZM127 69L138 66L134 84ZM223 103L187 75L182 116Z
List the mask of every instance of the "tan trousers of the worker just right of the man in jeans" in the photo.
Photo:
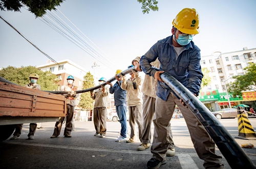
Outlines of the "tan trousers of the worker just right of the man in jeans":
M131 127L130 138L132 140L137 140L137 132L136 132L136 123L138 125L139 130L139 139L142 142L142 127L143 127L143 118L142 118L142 104L136 106L129 106L129 124ZM135 123L136 122L136 123Z

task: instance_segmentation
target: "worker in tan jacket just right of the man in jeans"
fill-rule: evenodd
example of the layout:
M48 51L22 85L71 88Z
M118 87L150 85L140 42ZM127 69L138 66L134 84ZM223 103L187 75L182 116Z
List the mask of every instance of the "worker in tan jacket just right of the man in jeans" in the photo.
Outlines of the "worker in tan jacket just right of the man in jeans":
M131 67L134 66L128 66L128 68ZM132 70L130 75L131 77L128 80L126 80L125 76L123 76L123 82L121 84L121 89L127 91L126 104L128 105L129 109L129 124L131 127L130 138L126 140L126 143L133 143L137 140L136 123L139 129L139 140L142 142L141 137L143 126L142 93L140 90L140 86L142 85L142 78L139 75L139 72L135 70Z

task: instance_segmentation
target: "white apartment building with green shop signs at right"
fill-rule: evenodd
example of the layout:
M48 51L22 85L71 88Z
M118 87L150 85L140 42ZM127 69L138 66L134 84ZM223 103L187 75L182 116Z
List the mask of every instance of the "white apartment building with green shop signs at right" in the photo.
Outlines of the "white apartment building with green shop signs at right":
M211 83L201 89L199 100L211 111L229 107L227 97L229 97L231 106L247 104L256 107L255 92L243 92L243 96L233 98L232 94L227 94L226 90L226 85L233 81L231 77L245 74L243 69L249 63L256 63L256 48L247 49L247 47L244 47L243 50L239 51L215 52L211 55L201 56L201 67L209 70Z

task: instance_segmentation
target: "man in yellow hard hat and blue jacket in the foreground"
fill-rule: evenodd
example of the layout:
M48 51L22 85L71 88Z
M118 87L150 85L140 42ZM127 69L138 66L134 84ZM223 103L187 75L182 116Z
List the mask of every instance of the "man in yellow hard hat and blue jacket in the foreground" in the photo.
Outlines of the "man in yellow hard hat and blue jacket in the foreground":
M222 157L215 154L215 143L195 115L179 100L174 91L166 85L160 75L164 72L175 77L188 91L198 96L203 73L200 66L200 49L193 38L199 34L199 13L195 9L182 9L173 20L172 36L159 40L140 59L145 74L158 80L154 116L154 139L151 146L153 157L147 162L148 168L165 164L166 152L174 150L170 121L177 105L185 119L195 150L205 168L223 168ZM159 59L160 71L151 65Z

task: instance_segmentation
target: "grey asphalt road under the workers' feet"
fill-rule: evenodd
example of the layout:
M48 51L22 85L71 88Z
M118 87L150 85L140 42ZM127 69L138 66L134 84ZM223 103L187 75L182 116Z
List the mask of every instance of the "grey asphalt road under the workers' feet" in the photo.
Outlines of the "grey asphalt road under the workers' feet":
M256 118L249 118L256 131ZM236 137L238 122L236 119L221 119L220 122ZM199 159L191 142L184 119L172 119L172 130L176 155L167 157L167 164L160 168L203 169L203 161ZM27 140L29 124L24 124L22 135L17 140L5 140L0 143L0 168L146 168L152 157L150 149L137 151L137 143L115 142L119 136L120 123L108 122L105 138L94 136L93 122L75 122L72 138L61 135L50 138L54 122L41 123L34 140ZM153 131L152 124L152 131ZM130 131L130 128L129 128ZM256 146L255 139L235 138L239 145L251 143ZM221 152L216 147L217 153ZM256 164L256 148L243 149ZM230 168L223 158L225 168Z

